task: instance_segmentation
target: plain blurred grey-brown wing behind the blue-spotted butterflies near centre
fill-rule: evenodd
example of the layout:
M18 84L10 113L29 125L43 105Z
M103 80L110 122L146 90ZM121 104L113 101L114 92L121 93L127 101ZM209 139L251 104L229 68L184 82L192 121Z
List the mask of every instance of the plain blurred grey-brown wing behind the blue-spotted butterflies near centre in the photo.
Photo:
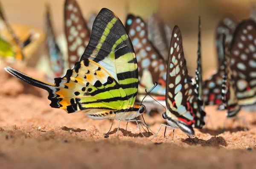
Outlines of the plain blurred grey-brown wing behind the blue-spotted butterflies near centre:
M156 14L152 14L147 21L148 39L157 48L165 60L168 59L169 42L172 29L163 23Z

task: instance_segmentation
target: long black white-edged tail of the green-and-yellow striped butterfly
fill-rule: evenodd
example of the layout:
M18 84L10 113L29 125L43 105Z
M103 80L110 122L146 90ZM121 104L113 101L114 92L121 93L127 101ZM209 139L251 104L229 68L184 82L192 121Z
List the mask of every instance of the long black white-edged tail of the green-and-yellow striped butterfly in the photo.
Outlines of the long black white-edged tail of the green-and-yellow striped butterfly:
M54 85L34 79L24 73L21 73L20 71L14 69L14 68L7 66L4 69L6 70L6 72L10 73L12 76L17 77L18 79L28 83L29 85L40 87L44 90L47 90L49 93L52 93L54 90L56 90Z

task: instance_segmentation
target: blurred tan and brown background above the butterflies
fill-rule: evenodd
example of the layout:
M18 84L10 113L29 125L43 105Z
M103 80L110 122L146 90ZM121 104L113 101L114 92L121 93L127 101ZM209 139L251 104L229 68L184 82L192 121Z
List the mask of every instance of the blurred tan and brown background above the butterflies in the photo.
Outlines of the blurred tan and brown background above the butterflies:
M217 66L215 51L215 28L225 14L234 14L237 19L247 19L250 14L249 0L77 0L84 18L98 13L101 8L109 8L125 23L128 13L136 14L147 20L155 12L167 25L178 25L183 34L183 48L189 73L194 75L197 59L198 16L202 23L202 66L203 71ZM44 31L45 4L49 3L52 23L57 36L64 36L64 0L1 0L6 19L12 25L27 25ZM15 28L18 36L22 36ZM44 36L43 36L44 37ZM63 39L63 38L62 38ZM30 52L32 60L38 60L44 51L45 43ZM65 43L63 43L65 46Z

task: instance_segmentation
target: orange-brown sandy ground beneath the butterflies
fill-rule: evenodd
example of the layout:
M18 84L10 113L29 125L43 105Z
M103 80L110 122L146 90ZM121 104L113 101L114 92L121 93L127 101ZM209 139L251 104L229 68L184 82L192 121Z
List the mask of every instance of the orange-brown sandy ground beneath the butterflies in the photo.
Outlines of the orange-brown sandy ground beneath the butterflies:
M16 67L17 68L17 67ZM18 67L38 79L46 76ZM144 138L134 123L95 121L83 113L67 114L49 106L48 93L0 69L0 168L256 168L256 112L241 110L240 119L226 120L224 111L206 107L207 125L188 138L179 129L164 138ZM161 114L144 115L156 132ZM245 123L243 123L243 120ZM224 129L224 123L227 128ZM244 131L247 128L248 131ZM148 135L147 132L143 132Z

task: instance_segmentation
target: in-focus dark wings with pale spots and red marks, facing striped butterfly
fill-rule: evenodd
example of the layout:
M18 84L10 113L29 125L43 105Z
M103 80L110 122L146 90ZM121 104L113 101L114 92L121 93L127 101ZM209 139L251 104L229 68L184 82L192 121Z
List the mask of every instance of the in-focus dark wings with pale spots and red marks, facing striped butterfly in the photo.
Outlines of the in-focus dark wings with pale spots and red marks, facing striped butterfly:
M198 98L195 86L188 75L183 53L182 37L178 26L172 32L166 81L166 115L181 130L193 135L192 127L202 128L205 124L203 102Z

